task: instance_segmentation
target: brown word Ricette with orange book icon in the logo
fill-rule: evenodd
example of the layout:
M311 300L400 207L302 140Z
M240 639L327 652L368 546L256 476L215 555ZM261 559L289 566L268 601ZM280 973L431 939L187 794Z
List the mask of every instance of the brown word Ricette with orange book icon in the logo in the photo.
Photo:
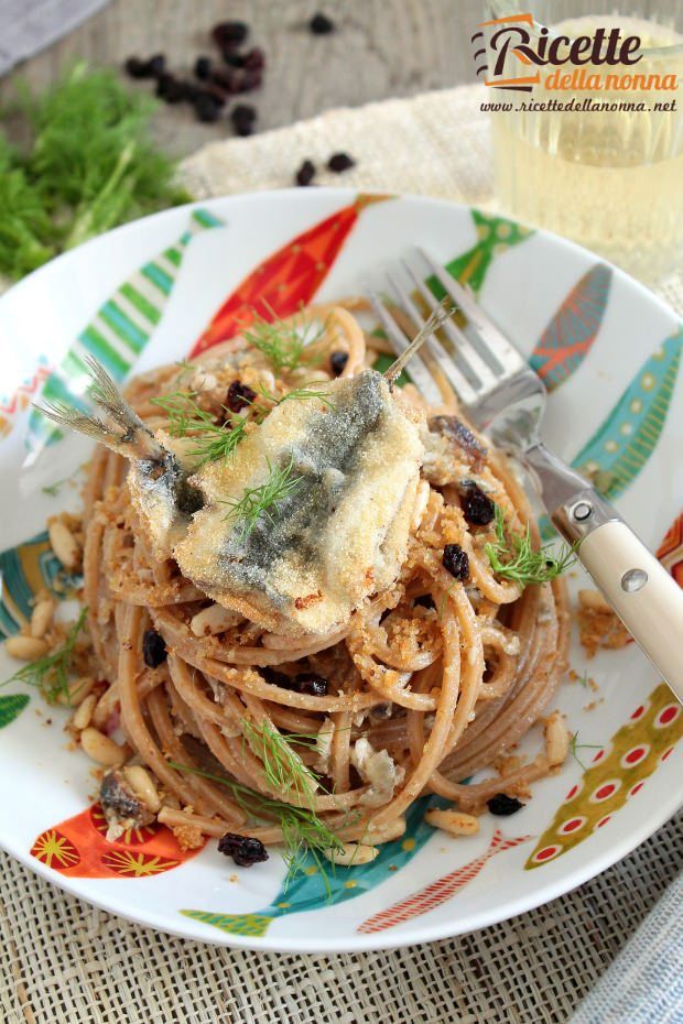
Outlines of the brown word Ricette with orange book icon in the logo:
M487 36L484 30L490 30ZM492 21L483 21L471 36L477 75L495 89L531 92L541 81L535 66L561 67L570 64L581 67L632 65L641 59L640 37L621 36L618 28L598 28L592 35L554 35L545 26L536 26L532 34L533 15L508 14ZM519 70L519 74L517 72Z

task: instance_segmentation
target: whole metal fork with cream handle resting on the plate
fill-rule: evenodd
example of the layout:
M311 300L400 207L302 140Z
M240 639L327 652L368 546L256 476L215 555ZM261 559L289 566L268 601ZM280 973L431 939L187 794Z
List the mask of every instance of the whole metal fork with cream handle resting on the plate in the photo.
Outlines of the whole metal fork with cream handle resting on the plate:
M576 546L594 582L683 702L683 590L590 482L545 447L540 437L546 399L541 378L471 292L423 249L418 249L418 255L426 275L438 281L466 318L468 334L453 317L446 318L440 331L447 344L435 334L426 339L421 353L410 362L413 382L427 402L441 404L443 393L436 383L441 374L474 426L497 447L521 459L559 533ZM440 305L425 284L424 272L408 260L400 266L408 286L395 274L387 274L391 304L379 293L369 292L397 355L424 326L425 317L413 295L416 293L430 311Z

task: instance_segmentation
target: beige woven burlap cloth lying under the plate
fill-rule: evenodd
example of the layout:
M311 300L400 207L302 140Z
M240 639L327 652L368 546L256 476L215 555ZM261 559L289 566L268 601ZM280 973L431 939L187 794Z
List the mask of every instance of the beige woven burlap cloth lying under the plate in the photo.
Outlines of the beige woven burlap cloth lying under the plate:
M492 201L477 87L336 110L185 163L198 196L283 187L305 157L357 165L319 184ZM660 288L683 313L683 268ZM6 1024L564 1024L683 865L679 817L538 911L388 952L277 956L155 934L93 909L0 856Z

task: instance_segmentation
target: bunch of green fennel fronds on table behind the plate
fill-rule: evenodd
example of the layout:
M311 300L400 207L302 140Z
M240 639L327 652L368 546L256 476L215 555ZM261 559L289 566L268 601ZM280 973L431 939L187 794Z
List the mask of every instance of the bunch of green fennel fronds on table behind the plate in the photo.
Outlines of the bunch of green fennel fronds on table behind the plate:
M116 72L77 64L39 96L22 88L17 107L30 139L14 146L0 132L0 274L18 280L119 224L192 199L151 140L155 101Z

